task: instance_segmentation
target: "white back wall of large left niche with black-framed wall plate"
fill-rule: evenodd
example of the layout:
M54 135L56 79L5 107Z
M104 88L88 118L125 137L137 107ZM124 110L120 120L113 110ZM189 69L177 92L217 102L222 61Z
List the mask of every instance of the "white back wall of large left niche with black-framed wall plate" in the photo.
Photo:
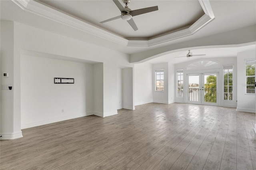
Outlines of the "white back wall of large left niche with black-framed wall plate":
M93 114L93 65L29 55L20 64L21 128ZM74 84L54 84L54 77Z

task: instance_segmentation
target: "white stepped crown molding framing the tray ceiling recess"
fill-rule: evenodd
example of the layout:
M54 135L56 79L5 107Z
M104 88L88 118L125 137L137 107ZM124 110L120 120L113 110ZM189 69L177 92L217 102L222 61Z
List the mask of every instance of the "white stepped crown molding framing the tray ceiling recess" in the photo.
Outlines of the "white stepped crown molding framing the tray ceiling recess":
M168 42L171 40L175 40L178 38L182 38L185 36L190 36L196 33L198 30L200 30L204 26L206 26L215 18L209 0L199 0L200 5L204 10L205 14L191 26L170 32L167 35L165 34L163 36L151 38L149 40L127 40L125 38L117 36L116 34L112 34L110 32L107 32L106 30L102 30L96 26L93 26L85 21L79 20L77 18L64 14L58 10L55 10L53 8L40 4L39 2L36 2L34 0L12 0L12 1L23 10L26 10L33 14L37 14L44 18L48 18L50 20L54 20L56 22L70 26L72 28L82 30L88 34L92 34L94 36L98 36L100 38L104 38L106 40L110 40L112 42L115 42L121 45L126 45L126 46L152 46L152 45Z

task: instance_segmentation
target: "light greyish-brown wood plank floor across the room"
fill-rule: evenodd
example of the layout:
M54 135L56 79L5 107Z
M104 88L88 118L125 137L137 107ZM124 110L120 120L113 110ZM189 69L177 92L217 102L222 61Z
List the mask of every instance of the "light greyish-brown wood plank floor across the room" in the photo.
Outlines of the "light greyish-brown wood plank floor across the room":
M256 170L255 113L150 103L22 130L1 140L1 169Z

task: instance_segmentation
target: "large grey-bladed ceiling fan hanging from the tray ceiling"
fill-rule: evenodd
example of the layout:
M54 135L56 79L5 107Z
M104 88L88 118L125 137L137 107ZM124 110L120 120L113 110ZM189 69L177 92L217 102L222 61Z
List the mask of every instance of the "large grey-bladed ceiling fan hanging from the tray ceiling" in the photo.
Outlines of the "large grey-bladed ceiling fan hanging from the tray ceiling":
M116 6L121 11L121 15L116 16L114 18L110 18L110 19L105 20L105 21L102 21L100 23L104 23L104 22L116 20L118 18L122 18L123 20L126 20L130 24L130 26L134 29L134 31L138 30L138 28L137 28L134 20L132 19L133 16L137 16L137 15L140 15L140 14L145 14L145 13L148 13L148 12L153 12L153 11L158 10L158 6L152 6L152 7L149 7L149 8L142 8L142 9L138 9L138 10L131 10L127 6L130 3L130 0L123 0L123 2L125 4L124 7L122 6L122 4L118 0L113 0L113 2L116 4Z

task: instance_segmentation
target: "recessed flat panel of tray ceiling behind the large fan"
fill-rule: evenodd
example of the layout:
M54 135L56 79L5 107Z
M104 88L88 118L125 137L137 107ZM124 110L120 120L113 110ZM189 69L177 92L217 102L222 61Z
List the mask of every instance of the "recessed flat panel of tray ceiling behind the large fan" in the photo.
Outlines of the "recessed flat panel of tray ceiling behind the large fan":
M122 1L119 1L123 6ZM138 30L120 19L100 24L101 21L120 16L121 12L112 0L40 0L52 8L79 18L94 26L126 39L150 39L191 26L204 15L198 0L131 0L131 10L158 6L158 11L134 16Z

